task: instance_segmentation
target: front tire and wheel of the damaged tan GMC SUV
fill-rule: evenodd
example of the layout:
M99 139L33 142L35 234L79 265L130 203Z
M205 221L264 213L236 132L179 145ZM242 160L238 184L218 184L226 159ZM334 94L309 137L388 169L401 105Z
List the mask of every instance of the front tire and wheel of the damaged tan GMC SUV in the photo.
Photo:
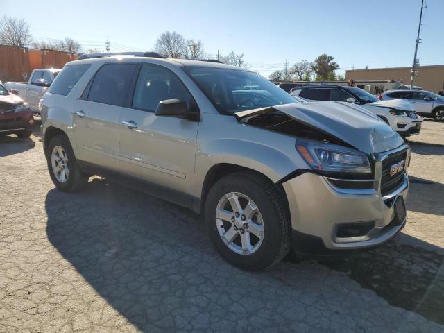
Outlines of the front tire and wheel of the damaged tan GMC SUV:
M264 176L232 173L210 189L205 223L219 254L233 266L258 271L290 249L291 225L282 196Z

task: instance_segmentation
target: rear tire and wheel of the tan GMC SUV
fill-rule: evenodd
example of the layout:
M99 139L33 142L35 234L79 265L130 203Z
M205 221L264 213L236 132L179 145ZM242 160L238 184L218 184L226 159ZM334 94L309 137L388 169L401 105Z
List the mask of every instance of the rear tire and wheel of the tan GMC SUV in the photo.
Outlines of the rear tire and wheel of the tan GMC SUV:
M65 135L51 139L46 147L46 162L51 180L60 191L78 191L87 185L89 177L78 167L74 151Z

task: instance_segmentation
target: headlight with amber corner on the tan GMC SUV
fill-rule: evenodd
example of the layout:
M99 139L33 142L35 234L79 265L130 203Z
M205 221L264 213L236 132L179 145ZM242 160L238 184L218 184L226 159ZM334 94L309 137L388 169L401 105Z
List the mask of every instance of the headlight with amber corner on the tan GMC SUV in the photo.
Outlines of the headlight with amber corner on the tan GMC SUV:
M368 174L372 172L367 155L352 148L309 140L296 141L296 148L316 171Z

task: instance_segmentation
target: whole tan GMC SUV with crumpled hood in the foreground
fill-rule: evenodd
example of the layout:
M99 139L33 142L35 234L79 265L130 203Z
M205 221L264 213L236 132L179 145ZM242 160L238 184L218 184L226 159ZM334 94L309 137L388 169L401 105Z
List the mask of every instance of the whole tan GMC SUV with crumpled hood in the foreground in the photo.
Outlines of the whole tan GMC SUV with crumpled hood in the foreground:
M91 55L54 80L41 112L58 189L98 174L189 207L220 255L246 269L291 245L344 253L403 228L409 147L375 114L298 103L239 67L150 54ZM269 97L248 97L246 85Z

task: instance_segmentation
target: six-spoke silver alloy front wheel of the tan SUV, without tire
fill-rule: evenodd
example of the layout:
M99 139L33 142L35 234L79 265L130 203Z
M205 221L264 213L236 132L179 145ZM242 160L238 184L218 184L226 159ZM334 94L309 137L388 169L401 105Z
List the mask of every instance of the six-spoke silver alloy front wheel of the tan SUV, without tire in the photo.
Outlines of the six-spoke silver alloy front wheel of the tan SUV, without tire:
M264 239L264 219L253 200L230 192L216 207L216 228L226 246L239 255L255 253Z

